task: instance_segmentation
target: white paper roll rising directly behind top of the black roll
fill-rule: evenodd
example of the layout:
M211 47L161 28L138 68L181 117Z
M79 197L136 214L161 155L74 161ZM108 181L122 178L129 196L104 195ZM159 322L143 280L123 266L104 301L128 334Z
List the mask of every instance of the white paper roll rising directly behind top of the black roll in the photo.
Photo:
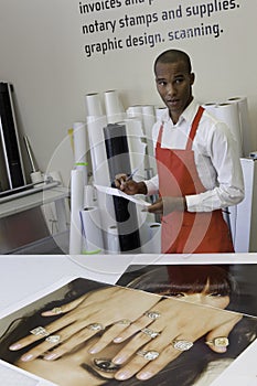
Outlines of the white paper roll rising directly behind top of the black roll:
M116 90L104 93L105 109L108 124L115 124L125 118L125 109Z

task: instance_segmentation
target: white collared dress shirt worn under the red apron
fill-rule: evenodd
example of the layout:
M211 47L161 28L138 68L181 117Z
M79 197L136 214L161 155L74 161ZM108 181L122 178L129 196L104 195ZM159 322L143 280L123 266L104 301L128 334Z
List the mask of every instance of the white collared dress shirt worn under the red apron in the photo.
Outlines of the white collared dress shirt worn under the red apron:
M199 106L193 100L175 125L165 109L161 121L157 121L152 129L154 149L162 124L161 148L185 149ZM204 110L192 150L200 180L206 192L186 195L188 211L210 212L238 204L244 199L244 179L237 144L227 125ZM149 195L158 193L158 175L144 182Z

